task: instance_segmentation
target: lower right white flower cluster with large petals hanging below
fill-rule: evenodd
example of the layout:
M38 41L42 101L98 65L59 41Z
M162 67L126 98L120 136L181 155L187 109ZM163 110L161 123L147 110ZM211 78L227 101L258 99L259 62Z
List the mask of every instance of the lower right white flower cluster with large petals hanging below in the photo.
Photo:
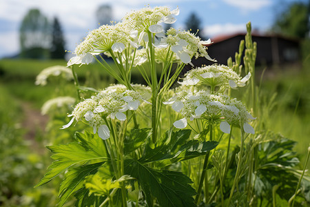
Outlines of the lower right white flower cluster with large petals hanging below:
M254 134L254 128L248 124L254 117L240 101L230 99L226 95L210 95L204 90L193 94L183 90L164 104L172 104L172 109L184 116L183 119L174 122L176 128L185 128L187 119L193 121L220 115L224 118L220 124L220 130L223 132L229 133L230 124L236 124L242 126L245 132Z

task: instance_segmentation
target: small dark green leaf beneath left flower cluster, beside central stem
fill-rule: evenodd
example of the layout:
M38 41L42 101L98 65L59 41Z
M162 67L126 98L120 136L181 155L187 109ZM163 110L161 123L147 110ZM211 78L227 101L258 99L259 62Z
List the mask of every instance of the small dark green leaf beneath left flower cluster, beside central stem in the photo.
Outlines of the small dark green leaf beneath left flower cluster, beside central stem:
M130 152L139 148L152 135L151 128L133 129L130 135L124 140L124 154L128 155Z

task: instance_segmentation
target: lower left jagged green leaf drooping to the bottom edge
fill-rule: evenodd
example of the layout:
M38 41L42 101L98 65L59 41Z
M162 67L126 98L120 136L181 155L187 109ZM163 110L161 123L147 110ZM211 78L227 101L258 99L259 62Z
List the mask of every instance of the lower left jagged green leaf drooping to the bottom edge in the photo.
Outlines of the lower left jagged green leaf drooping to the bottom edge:
M90 164L87 166L79 166L77 168L70 168L68 172L65 173L65 178L63 179L63 182L61 183L60 189L59 189L59 203L58 206L63 206L65 204L65 201L72 195L72 193L76 192L76 190L79 190L83 188L83 182L86 176L88 175L94 175L99 166L101 166L103 163L96 163L96 164Z

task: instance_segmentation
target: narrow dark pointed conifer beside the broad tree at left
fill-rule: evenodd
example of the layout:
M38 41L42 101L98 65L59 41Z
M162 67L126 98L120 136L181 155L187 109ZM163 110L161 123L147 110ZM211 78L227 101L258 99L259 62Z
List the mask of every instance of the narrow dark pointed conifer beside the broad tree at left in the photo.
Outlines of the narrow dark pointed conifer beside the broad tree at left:
M52 25L52 44L50 48L50 57L52 59L65 58L65 40L63 39L63 31L57 17L54 17Z

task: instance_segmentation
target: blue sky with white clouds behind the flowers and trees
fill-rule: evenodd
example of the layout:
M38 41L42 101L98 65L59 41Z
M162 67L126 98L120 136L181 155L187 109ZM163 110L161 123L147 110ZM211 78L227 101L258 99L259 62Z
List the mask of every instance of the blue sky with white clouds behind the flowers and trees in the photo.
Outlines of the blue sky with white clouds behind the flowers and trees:
M192 12L201 19L201 30L207 37L245 31L245 24L265 32L271 27L275 15L285 5L294 1L307 0L0 0L0 58L19 51L19 26L31 8L39 8L50 20L58 17L63 28L66 49L75 46L89 30L98 26L96 8L110 4L113 20L119 21L126 12L144 6L168 6L180 8L180 15L174 24L183 28Z

